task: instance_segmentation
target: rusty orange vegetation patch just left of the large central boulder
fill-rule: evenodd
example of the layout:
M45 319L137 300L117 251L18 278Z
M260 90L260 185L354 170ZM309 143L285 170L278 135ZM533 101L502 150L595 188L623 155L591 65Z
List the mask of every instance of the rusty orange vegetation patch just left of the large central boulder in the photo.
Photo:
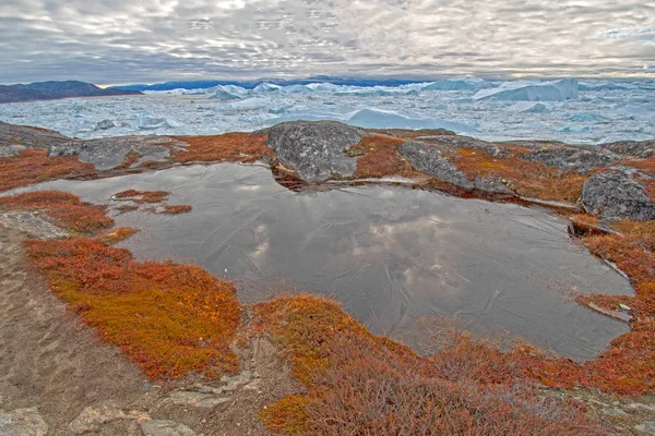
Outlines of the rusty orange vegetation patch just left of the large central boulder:
M182 150L172 150L177 162L254 162L270 150L269 135L226 133L217 136L178 136L174 140L189 144Z

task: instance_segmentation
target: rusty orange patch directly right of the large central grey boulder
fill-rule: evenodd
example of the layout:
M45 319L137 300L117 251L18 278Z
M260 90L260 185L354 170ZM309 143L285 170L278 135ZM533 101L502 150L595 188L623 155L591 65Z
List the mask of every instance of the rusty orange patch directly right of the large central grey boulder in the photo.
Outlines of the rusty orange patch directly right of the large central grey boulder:
M358 156L355 178L383 178L385 175L416 177L419 175L412 165L398 153L398 146L404 140L391 136L367 136L359 144L350 147L348 153Z

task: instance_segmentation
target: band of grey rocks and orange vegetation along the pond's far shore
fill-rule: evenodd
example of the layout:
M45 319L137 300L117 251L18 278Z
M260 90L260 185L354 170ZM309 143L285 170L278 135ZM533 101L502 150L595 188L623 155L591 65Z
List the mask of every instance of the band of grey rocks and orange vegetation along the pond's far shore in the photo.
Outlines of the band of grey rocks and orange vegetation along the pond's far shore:
M222 138L229 135L80 141L0 122L0 157L44 149L97 172L263 159L287 180L312 184L395 177L460 194L560 202L605 221L655 219L655 141L488 143L443 130L366 131L334 121L282 123L227 144ZM194 153L212 142L218 153Z

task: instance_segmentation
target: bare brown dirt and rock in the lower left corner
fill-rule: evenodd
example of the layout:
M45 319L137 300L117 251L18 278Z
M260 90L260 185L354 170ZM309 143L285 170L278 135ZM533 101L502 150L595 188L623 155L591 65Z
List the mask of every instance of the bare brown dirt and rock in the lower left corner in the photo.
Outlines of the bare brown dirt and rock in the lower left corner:
M258 412L296 390L271 342L237 348L242 371L233 377L148 383L28 270L25 231L57 237L49 225L0 222L1 435L266 434Z

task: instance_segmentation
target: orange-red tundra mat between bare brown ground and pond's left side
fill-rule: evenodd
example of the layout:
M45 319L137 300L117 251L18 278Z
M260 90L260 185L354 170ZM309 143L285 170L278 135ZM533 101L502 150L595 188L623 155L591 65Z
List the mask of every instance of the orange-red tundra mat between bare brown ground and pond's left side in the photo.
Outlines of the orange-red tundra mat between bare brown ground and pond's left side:
M150 378L238 368L228 347L241 314L231 283L198 266L138 263L85 238L28 241L27 253L52 291Z

